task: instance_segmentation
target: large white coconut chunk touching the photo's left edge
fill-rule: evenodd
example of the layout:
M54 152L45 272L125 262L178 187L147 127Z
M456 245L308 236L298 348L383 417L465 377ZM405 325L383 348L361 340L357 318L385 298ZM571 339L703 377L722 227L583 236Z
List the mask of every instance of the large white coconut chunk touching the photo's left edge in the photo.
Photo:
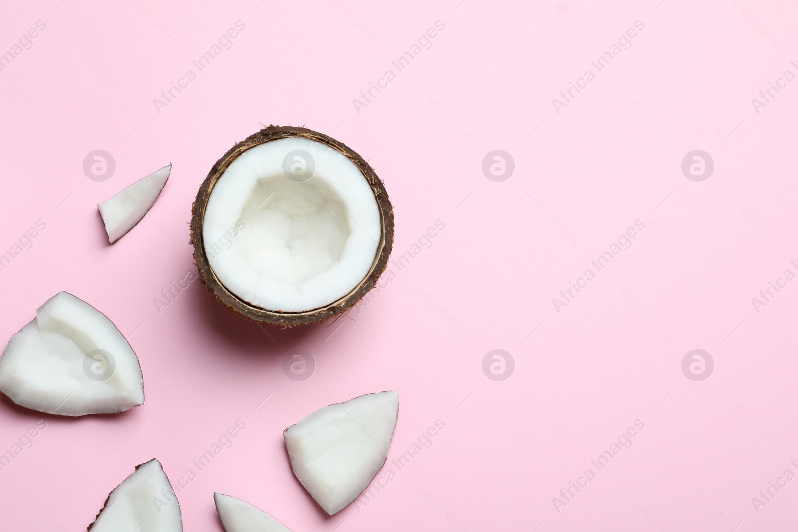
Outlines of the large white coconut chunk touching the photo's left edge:
M49 298L0 357L0 392L59 416L112 414L144 404L139 359L116 325L67 292Z

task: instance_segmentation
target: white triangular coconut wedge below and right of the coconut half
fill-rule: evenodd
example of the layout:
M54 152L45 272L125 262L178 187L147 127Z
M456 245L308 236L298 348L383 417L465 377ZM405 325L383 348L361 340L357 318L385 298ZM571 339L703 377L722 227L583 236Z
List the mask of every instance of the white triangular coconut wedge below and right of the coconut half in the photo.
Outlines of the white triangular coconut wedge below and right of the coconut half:
M291 467L330 515L354 501L388 458L399 414L396 392L331 404L286 428Z

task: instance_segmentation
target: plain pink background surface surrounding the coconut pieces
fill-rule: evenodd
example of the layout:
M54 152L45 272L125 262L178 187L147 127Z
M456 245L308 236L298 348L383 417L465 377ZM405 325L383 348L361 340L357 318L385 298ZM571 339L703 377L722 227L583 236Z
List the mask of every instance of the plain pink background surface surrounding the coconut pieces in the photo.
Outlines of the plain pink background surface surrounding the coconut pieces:
M758 511L752 498L798 473L798 282L758 313L751 300L798 273L798 81L758 113L751 99L798 73L798 7L61 2L0 8L0 53L46 24L0 72L0 253L47 224L0 272L0 337L68 290L132 334L146 404L45 416L34 447L0 471L2 530L83 530L133 466L157 457L174 483L236 420L247 428L233 446L178 494L185 530L221 530L213 491L297 531L796 522L798 480ZM239 20L232 48L157 112L153 98ZM432 48L358 112L360 91L439 20ZM551 99L638 20L632 47L555 112ZM199 184L260 124L304 124L369 160L396 213L394 259L437 220L444 231L335 323L263 330L199 282L159 313L160 291L194 270ZM104 183L82 170L98 148L117 162ZM516 165L500 183L481 169L497 148ZM715 163L702 183L681 172L693 149ZM148 217L109 246L97 203L170 161ZM633 246L556 312L559 290L638 219ZM313 354L310 380L282 372L294 348ZM484 374L492 349L512 354L508 380ZM682 373L691 349L713 357L708 380ZM385 389L401 396L389 459L436 420L446 427L371 502L327 517L294 479L282 430ZM0 452L41 419L3 400ZM597 471L591 459L635 420L632 447ZM555 509L588 467L595 479Z

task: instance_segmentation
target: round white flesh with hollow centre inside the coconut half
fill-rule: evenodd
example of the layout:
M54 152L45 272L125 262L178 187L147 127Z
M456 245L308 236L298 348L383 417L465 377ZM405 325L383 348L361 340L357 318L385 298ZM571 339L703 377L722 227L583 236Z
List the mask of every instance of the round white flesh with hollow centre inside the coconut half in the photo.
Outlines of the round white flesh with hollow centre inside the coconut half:
M358 167L298 136L238 156L215 184L203 219L219 281L251 305L282 312L349 294L369 273L380 236L377 200Z

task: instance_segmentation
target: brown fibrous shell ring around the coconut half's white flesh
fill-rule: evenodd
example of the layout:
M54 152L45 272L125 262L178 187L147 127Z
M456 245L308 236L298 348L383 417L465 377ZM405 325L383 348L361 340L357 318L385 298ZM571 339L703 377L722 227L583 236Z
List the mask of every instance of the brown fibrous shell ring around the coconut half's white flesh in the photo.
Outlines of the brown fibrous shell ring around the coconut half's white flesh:
M211 199L213 187L215 187L219 178L222 177L224 171L227 170L227 167L249 148L253 148L264 142L285 139L290 136L302 136L311 140L316 140L330 146L330 148L338 150L338 152L348 157L355 166L360 169L365 180L369 183L380 211L380 241L377 244L377 253L374 256L369 272L349 294L346 294L337 301L330 302L328 305L303 312L282 312L282 310L279 309L264 309L252 305L248 301L244 301L230 290L227 290L227 287L219 281L219 278L216 277L216 274L211 268L205 250L205 239L203 238L203 223L208 200ZM311 129L270 125L267 128L261 129L254 135L248 136L246 140L235 144L235 146L227 150L227 153L225 153L221 159L216 161L216 164L211 168L204 183L199 187L196 199L192 205L191 230L191 242L194 246L194 260L199 269L199 278L202 279L207 290L219 303L239 314L239 316L262 323L291 327L294 325L316 323L317 321L323 321L330 317L337 316L347 309L350 309L350 307L365 296L366 292L373 288L377 283L377 279L385 270L385 266L388 264L388 257L393 247L393 207L391 207L388 194L385 192L385 187L377 177L377 174L374 173L373 168L369 166L357 152L354 152L352 148L330 136L323 135Z

